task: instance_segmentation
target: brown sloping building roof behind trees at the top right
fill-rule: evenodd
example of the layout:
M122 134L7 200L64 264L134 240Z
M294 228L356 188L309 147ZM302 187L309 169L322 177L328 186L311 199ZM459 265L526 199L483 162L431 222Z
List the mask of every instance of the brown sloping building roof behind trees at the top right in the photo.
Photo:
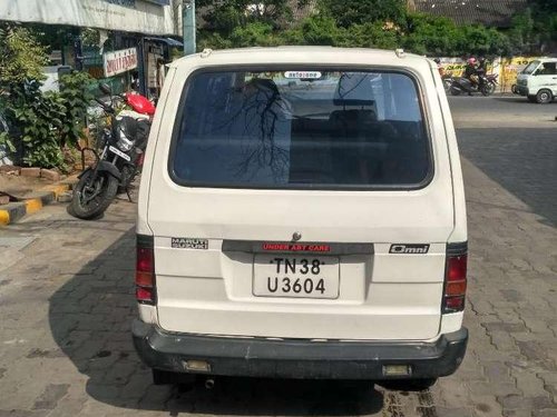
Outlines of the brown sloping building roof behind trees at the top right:
M416 11L444 16L457 24L481 23L508 28L514 14L528 6L527 0L413 0Z

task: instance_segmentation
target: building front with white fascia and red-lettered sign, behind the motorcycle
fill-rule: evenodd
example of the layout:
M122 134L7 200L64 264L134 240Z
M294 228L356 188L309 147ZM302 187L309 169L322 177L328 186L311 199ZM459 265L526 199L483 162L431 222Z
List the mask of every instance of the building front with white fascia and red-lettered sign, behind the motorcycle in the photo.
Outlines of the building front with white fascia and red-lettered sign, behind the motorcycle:
M61 63L85 70L115 92L130 88L157 98L170 48L182 46L177 0L3 0L0 20L80 28ZM87 28L87 29L86 29ZM95 42L84 32L95 31ZM79 31L78 31L79 32ZM70 51L70 53L68 53Z

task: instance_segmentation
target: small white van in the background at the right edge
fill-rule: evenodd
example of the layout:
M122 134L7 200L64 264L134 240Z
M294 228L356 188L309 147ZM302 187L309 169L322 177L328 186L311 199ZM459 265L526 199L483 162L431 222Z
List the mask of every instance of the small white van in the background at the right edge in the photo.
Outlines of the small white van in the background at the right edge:
M557 58L539 58L517 76L514 89L531 102L547 103L557 97Z

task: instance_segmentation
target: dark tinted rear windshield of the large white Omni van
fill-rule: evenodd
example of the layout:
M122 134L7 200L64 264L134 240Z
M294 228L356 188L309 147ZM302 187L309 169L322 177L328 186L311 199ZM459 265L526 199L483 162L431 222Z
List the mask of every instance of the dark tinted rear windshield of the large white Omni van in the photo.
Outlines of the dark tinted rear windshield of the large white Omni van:
M182 100L169 160L180 185L416 188L431 173L405 73L196 72Z

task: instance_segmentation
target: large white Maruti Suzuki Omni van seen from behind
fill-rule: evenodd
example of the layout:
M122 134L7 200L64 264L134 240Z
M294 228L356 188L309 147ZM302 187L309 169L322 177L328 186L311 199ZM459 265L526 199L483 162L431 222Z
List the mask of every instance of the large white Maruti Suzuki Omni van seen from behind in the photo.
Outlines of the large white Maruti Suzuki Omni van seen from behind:
M326 47L183 58L138 206L133 334L156 383L428 386L462 361L465 192L433 61Z

